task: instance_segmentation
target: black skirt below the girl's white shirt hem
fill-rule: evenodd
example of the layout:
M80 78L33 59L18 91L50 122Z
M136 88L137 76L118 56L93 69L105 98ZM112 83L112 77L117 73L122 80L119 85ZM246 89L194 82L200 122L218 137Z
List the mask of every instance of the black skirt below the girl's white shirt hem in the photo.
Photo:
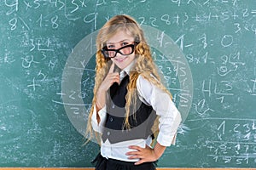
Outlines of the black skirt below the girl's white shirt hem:
M96 170L155 170L156 167L156 161L134 165L134 162L106 159L101 154L96 156L92 164Z

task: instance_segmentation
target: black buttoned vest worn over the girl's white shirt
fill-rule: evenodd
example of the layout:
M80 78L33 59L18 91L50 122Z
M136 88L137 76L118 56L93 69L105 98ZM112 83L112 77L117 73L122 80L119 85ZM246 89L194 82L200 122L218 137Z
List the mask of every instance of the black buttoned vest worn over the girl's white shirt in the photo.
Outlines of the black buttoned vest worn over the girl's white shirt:
M152 135L151 127L156 114L151 106L143 104L140 99L137 99L136 113L133 114L131 110L129 116L131 129L125 128L125 95L128 83L129 76L126 76L120 84L113 83L108 90L110 97L107 101L107 120L102 133L103 142L108 139L114 144L131 139L147 139Z

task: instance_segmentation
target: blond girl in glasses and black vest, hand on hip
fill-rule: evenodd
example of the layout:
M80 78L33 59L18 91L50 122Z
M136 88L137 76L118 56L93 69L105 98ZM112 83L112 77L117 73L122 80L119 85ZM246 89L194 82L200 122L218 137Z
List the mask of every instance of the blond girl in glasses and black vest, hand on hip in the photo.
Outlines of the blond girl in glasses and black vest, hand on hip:
M143 31L130 16L114 16L99 31L96 48L87 127L101 144L96 170L155 169L175 141L181 116L160 82Z

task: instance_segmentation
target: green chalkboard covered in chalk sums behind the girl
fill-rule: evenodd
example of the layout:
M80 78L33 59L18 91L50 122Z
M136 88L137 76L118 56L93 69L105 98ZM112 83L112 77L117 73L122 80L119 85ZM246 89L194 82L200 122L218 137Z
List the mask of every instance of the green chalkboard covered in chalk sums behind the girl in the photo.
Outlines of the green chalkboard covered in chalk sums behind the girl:
M3 0L0 167L91 167L83 145L95 37L116 14L143 27L181 111L159 167L256 167L254 0Z

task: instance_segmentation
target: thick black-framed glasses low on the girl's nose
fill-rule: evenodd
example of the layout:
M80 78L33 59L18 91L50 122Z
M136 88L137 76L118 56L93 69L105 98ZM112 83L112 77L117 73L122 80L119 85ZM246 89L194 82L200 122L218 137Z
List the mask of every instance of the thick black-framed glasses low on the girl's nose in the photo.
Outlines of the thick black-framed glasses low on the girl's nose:
M108 49L108 47L105 46L104 48L102 48L102 54L105 56L105 58L114 58L116 57L117 53L122 55L130 55L133 54L136 45L137 43L129 44L119 49Z

